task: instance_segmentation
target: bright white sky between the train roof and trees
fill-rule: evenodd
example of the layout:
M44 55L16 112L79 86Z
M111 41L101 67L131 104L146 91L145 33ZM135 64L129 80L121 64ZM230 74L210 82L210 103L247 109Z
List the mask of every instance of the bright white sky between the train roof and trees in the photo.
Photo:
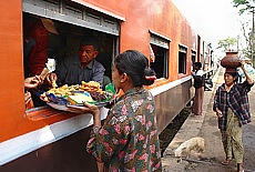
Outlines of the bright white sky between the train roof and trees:
M172 0L195 31L213 48L220 40L243 34L238 9L232 0ZM252 20L252 14L251 14Z

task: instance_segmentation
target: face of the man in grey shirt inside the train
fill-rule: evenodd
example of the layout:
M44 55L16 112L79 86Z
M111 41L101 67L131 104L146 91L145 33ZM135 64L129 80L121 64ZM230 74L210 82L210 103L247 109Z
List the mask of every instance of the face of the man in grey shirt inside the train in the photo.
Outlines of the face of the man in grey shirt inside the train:
M81 45L78 52L81 63L89 64L98 55L99 51L93 45Z

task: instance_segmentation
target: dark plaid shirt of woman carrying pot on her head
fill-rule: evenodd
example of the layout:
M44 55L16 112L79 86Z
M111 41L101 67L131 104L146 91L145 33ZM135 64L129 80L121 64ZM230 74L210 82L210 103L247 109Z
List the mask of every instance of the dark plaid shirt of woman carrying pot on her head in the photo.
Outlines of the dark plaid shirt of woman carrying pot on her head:
M244 125L251 122L247 93L251 91L252 87L253 84L248 84L247 81L234 84L228 92L225 89L225 83L218 87L214 95L213 104L214 111L217 108L223 113L223 118L218 118L218 129L224 131L226 130L228 108L231 108L234 114L238 118L239 125Z

